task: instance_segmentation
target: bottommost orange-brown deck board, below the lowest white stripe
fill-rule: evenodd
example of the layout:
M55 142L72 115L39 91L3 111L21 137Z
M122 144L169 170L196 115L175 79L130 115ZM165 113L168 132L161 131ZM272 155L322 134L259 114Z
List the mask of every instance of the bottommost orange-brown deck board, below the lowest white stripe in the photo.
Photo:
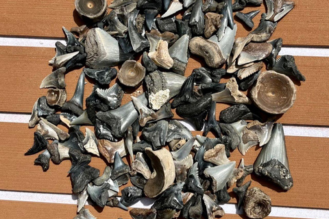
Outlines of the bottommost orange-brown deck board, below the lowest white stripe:
M131 219L129 211L122 209L105 207L99 209L95 206L86 206L91 214L96 218L123 218ZM1 216L3 218L22 218L25 219L58 219L73 218L77 207L75 205L52 204L52 203L32 203L23 201L0 201ZM17 211L19 209L19 211ZM226 214L226 219L245 218L245 216L237 214ZM267 217L274 219L275 217ZM282 218L287 219L287 218ZM293 219L293 218L291 218Z

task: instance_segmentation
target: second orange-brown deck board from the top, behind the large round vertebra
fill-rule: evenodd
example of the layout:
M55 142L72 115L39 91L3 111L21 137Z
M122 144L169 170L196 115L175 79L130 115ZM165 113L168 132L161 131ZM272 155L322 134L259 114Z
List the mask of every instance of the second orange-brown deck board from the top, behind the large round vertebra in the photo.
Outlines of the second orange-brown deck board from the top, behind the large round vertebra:
M0 72L3 75L0 81L0 112L31 113L32 107L39 96L47 94L46 89L39 89L44 77L51 73L48 60L55 51L49 48L33 47L1 47ZM297 125L329 125L329 86L326 84L327 66L326 57L295 57L300 71L305 75L306 82L297 86L295 105L282 116L279 121ZM185 76L191 75L194 68L202 66L191 57L186 68ZM68 99L73 96L80 70L74 70L66 75L66 90ZM84 99L90 95L93 80L86 77ZM115 80L111 84L115 83ZM125 91L123 103L130 101L130 95L138 96L143 92L143 86L138 89ZM321 103L321 104L319 104ZM217 104L217 118L219 112L228 107L227 104ZM179 116L175 116L179 118Z

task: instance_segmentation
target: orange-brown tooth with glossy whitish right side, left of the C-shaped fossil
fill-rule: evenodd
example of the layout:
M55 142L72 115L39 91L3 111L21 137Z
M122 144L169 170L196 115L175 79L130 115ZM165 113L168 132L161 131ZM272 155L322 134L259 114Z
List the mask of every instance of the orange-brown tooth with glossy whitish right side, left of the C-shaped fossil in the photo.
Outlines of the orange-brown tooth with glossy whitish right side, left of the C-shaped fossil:
M114 162L114 155L116 152L119 152L121 157L127 155L124 140L111 142L110 140L100 139L98 140L98 150L110 164Z

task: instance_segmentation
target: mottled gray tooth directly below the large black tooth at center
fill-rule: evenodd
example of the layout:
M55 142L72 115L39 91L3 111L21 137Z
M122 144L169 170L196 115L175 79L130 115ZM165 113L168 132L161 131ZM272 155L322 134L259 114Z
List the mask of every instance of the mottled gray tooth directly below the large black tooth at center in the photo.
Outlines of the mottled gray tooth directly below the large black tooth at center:
M191 131L178 120L169 121L166 142L171 142L174 139L189 140L192 137Z

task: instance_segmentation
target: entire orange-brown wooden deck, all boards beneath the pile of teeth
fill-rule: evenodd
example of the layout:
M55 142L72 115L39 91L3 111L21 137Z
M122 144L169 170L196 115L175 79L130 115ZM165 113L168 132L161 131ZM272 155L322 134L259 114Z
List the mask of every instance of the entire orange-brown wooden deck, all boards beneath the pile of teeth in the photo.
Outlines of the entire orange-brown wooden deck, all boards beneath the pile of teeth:
M328 48L329 1L315 3L295 0L295 4L295 8L278 23L271 39L281 37L284 46L289 47ZM246 8L244 12L258 9L265 12L264 5ZM254 18L256 27L260 14ZM239 22L236 23L237 36L246 36L247 31ZM0 36L4 37L64 38L62 26L70 29L81 24L82 21L74 12L73 0L12 0L0 4ZM53 48L0 46L0 112L31 112L36 99L46 94L46 90L40 90L39 86L42 79L51 73L48 60L54 54ZM326 77L329 57L296 56L295 61L305 75L306 82L297 85L295 105L278 122L284 125L328 128L329 86ZM191 57L186 76L199 66L201 64ZM66 75L68 99L73 95L80 73L81 69ZM93 86L93 81L88 82L85 97L90 94ZM124 102L130 101L130 95L131 92L125 94ZM217 115L226 107L228 105L217 104ZM179 117L175 115L175 118ZM49 170L42 172L40 166L33 165L37 155L23 155L32 145L34 130L28 129L26 123L0 121L0 190L71 194L71 181L67 173L71 162L64 161L60 165L51 163ZM249 176L246 180L251 178L252 186L260 187L269 194L273 206L329 209L326 201L329 196L329 136L326 137L287 136L287 153L294 179L294 186L289 192L277 191L256 176ZM252 164L259 151L259 147L251 149L243 157L245 164ZM239 163L241 157L236 150L230 160ZM106 166L103 159L97 157L93 157L90 165L99 168L101 172ZM236 198L232 198L230 203L236 203ZM76 211L75 205L21 201L0 201L0 209L0 218L73 218ZM127 211L117 208L106 207L101 210L88 206L88 209L97 218L130 218ZM225 216L228 219L241 217L236 214Z

